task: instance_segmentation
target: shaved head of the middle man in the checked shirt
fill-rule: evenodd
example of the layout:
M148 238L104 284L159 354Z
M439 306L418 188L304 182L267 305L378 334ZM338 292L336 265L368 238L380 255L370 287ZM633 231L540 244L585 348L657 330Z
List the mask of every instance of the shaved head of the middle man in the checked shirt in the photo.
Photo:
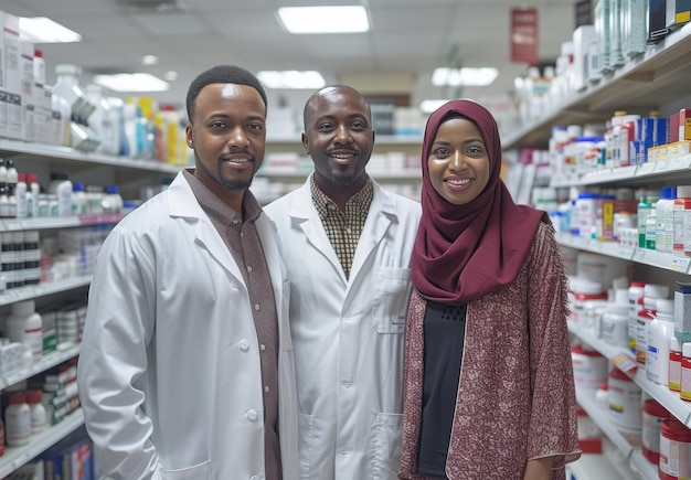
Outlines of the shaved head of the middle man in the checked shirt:
M315 162L315 181L327 195L360 190L374 145L364 97L340 86L312 96L305 108L302 145Z

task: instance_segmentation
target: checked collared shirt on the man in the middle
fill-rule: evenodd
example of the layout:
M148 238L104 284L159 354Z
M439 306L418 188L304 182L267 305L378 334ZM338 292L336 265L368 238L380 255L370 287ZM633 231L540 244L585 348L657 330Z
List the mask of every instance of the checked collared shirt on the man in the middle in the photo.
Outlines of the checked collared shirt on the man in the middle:
M360 234L364 227L364 221L368 218L368 212L374 196L372 180L368 178L362 189L346 202L346 211L341 211L336 202L317 186L315 175L310 177L309 184L312 192L312 202L315 202L323 230L343 267L346 278L349 278Z

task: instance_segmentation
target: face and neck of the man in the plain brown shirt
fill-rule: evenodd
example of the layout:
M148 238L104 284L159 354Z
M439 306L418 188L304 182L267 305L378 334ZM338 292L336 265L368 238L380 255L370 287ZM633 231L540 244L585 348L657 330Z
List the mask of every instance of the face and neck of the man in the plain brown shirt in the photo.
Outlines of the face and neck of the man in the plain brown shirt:
M264 159L265 126L266 105L254 87L215 83L199 93L187 127L194 175L237 212Z

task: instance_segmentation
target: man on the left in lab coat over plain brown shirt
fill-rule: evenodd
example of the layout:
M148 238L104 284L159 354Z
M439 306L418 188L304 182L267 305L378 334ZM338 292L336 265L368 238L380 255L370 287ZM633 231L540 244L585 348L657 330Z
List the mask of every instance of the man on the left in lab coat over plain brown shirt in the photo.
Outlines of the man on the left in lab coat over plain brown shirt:
M243 68L187 98L195 169L117 225L98 255L78 391L115 479L298 478L289 284L247 190L266 94Z

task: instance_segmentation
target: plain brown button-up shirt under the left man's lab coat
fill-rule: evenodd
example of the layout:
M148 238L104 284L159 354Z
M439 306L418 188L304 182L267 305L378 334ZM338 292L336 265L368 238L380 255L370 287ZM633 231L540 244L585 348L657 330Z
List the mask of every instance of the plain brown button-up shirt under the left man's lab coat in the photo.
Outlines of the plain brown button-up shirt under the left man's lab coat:
M278 314L274 289L266 266L262 241L255 221L262 206L246 191L242 215L227 206L192 173L185 170L194 196L199 201L237 263L252 305L252 316L257 332L264 392L264 450L266 479L280 480L280 444L278 440ZM228 312L232 314L232 311ZM228 321L233 321L228 318ZM240 386L242 387L242 386Z

